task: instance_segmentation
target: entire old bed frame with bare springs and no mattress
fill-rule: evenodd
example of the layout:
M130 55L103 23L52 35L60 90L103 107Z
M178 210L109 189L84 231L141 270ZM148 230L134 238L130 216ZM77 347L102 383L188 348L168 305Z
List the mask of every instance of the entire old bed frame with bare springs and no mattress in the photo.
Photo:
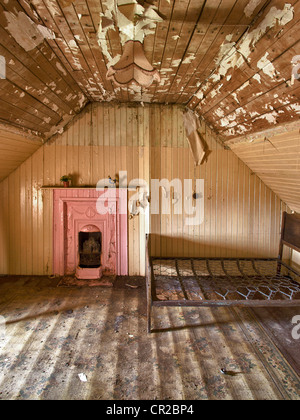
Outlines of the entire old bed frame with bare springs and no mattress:
M300 252L300 215L283 213L278 258L151 256L146 235L147 330L153 307L299 306L300 273L284 245Z

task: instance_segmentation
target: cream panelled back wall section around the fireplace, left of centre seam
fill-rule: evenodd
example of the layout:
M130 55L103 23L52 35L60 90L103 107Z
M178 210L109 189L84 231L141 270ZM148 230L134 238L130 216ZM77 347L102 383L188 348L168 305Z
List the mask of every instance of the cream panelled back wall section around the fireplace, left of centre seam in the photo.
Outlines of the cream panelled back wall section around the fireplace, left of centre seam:
M71 174L73 186L95 187L120 170L149 181L150 108L90 105L62 134L46 142L0 184L0 273L52 274L52 189ZM160 112L157 109L157 118ZM129 192L129 196L135 194ZM129 272L145 270L149 218L128 220Z

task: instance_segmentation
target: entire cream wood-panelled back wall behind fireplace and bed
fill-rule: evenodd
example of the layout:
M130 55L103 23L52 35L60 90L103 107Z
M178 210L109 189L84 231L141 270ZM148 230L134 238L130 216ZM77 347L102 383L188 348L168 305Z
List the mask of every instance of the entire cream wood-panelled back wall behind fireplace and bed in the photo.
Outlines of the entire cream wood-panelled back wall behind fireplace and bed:
M204 179L205 220L152 215L152 252L161 255L277 256L284 203L204 124L211 150L195 168L178 106L94 104L61 135L38 149L0 183L0 273L52 274L52 190L64 174L73 185L128 172L142 178ZM132 195L134 192L130 192ZM128 220L129 274L145 268L145 216Z

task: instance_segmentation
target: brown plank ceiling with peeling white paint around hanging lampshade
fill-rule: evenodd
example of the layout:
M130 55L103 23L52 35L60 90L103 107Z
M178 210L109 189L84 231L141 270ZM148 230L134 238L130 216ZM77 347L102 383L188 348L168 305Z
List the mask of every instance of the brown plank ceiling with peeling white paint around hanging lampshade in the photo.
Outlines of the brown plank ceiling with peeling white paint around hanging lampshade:
M0 119L44 138L89 101L179 103L223 138L298 119L299 12L295 0L1 0ZM160 72L148 89L106 79L130 17Z

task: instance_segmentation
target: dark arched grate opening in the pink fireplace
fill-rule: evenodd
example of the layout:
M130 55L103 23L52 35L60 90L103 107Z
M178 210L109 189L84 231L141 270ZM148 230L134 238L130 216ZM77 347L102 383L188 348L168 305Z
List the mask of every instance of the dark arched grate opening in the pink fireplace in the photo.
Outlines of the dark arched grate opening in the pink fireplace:
M79 232L79 267L98 268L101 266L101 232Z

